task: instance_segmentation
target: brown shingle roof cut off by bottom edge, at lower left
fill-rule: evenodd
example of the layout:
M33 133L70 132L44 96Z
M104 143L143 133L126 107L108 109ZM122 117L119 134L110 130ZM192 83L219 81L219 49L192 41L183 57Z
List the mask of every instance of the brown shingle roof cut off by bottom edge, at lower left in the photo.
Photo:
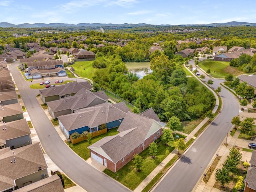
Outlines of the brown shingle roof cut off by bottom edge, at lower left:
M37 181L25 187L15 190L15 192L64 192L62 182L57 174Z

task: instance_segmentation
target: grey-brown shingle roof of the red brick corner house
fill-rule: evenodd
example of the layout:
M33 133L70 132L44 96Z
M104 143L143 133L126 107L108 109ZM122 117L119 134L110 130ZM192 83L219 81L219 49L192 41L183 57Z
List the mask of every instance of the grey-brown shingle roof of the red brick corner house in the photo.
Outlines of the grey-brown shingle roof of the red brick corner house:
M92 150L93 148L102 148L116 163L144 142L154 123L156 123L154 119L128 112L118 128L120 133L103 138L88 148ZM162 128L160 124L156 123L156 125L158 130Z

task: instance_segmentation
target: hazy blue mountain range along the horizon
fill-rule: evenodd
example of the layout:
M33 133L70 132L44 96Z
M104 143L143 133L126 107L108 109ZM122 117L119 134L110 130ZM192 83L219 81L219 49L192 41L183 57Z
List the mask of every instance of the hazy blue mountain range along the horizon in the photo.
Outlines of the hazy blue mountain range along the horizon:
M66 23L23 23L23 24L11 24L8 22L0 22L0 27L7 28L7 27L15 27L15 28L41 28L41 27L103 27L103 26L112 26L112 27L134 27L134 26L156 26L146 23L139 23L139 24L103 24L103 23L79 23L79 24L66 24ZM159 26L173 26L173 25L159 25ZM227 22L227 23L210 23L210 24L182 24L180 26L256 26L256 23L248 23L248 22Z

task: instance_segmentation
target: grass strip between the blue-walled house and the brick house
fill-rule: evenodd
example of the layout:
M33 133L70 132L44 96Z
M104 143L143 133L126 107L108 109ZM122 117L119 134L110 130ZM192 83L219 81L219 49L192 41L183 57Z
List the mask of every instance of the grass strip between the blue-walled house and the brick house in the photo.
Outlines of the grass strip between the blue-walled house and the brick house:
M90 150L87 148L88 146L96 143L97 141L101 140L102 138L106 137L106 136L112 136L112 135L116 135L118 134L117 131L118 128L113 128L111 130L109 130L108 132L106 132L105 134L96 136L94 138L92 138L92 143L89 144L89 142L87 140L82 141L80 143L77 144L72 144L71 142L66 141L66 144L76 153L78 154L81 158L83 158L84 160L87 160L90 157Z

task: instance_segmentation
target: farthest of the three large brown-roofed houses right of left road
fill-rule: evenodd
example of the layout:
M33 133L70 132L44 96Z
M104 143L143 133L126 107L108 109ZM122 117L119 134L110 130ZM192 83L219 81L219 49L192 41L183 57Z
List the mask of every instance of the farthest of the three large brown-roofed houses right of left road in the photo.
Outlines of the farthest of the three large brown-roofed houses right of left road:
M44 103L59 100L61 98L66 98L75 95L79 90L85 88L90 90L92 86L88 81L85 82L70 82L65 85L56 86L49 89L39 90L40 97Z

